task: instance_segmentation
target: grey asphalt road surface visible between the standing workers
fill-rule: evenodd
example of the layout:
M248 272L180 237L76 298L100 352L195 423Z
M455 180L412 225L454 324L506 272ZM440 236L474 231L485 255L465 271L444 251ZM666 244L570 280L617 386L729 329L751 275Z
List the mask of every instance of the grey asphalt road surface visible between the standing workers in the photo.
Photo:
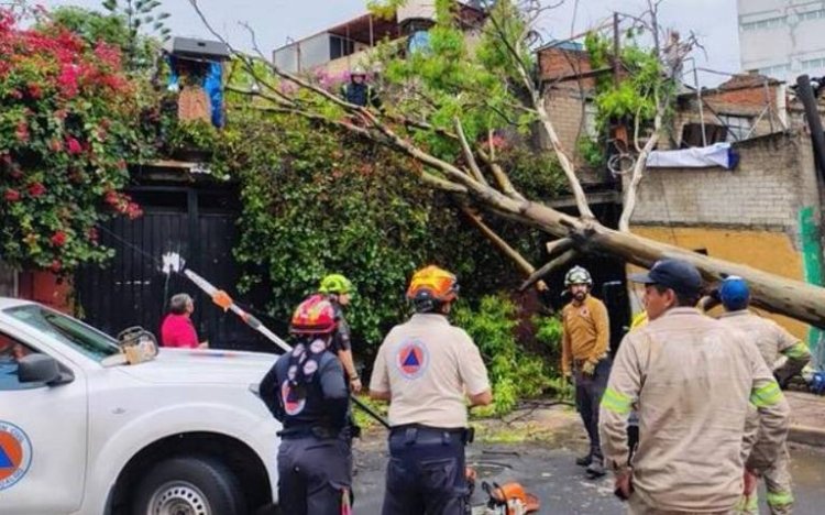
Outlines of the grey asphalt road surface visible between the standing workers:
M795 482L798 515L825 513L825 451L792 447L792 472ZM541 501L542 514L624 514L625 507L613 495L609 476L591 481L576 467L576 456L570 448L548 448L544 443L486 446L473 445L469 461L482 480L505 483L520 482ZM384 495L386 452L377 441L363 442L356 449L355 513L381 513ZM762 498L765 495L761 496ZM474 504L483 503L476 492ZM762 513L768 513L762 508Z

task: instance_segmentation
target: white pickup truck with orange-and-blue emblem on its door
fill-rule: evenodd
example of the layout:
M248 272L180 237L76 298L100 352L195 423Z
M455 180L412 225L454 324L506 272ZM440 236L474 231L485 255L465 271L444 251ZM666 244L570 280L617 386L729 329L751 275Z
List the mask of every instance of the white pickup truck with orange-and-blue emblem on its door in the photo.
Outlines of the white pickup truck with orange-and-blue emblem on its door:
M280 426L256 385L275 357L127 354L72 317L0 298L0 513L274 509Z

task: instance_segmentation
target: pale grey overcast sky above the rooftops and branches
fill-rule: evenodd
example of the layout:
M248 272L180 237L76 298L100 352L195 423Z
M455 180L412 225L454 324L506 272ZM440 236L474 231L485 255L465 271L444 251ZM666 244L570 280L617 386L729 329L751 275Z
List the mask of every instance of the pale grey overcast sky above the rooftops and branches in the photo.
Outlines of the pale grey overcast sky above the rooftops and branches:
M172 14L168 25L175 35L208 37L188 0L162 0L163 10ZM366 0L199 0L202 10L233 45L249 48L250 40L240 22L248 22L258 44L267 54L282 46L287 37L300 39L366 12ZM578 3L578 6L576 6ZM45 0L50 7L75 4L99 9L100 0ZM613 10L637 14L645 0L565 0L542 23L551 39L566 39L573 33L609 19ZM722 72L739 70L739 42L736 0L663 0L661 24L683 34L695 32L707 50L707 57L696 54L700 67ZM690 64L686 66L690 68ZM704 75L702 81L714 85L724 77Z

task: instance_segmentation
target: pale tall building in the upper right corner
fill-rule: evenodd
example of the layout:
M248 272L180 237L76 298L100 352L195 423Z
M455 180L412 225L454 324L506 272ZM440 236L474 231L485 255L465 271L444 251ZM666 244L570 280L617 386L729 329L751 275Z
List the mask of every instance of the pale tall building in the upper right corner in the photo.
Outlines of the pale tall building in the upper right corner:
M793 83L825 75L825 1L737 0L741 67Z

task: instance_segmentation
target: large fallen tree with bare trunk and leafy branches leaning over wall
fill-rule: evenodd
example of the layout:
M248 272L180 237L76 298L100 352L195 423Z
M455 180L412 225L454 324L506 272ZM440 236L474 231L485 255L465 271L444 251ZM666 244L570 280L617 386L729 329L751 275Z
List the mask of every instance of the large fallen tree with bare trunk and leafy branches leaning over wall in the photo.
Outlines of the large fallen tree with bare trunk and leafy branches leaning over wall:
M197 1L190 2L210 26ZM630 232L636 190L646 172L646 156L656 147L662 133L663 117L670 101L663 88L653 87L650 90L657 109L652 130L644 145L640 144L638 124L635 130L638 155L625 190L619 230L607 228L596 220L587 204L573 161L561 144L544 107L542 89L535 80L536 63L531 50L531 44L537 41L535 24L548 8L538 0L495 2L481 28L484 41L470 58L466 48L460 47L455 40L455 31L460 31L461 24L466 22L457 15L454 3L450 0L438 0L436 4L439 23L431 31L431 45L443 43L450 53L439 55L440 48L437 48L429 55L406 56L405 61L413 68L405 68L399 74L406 83L396 91L397 100L386 110L350 105L317 81L278 68L261 52L249 55L233 50L238 63L252 81L245 89L235 86L234 92L265 102L274 113L299 114L410 157L417 163L410 172L427 185L453 196L462 205L538 228L556 238L558 241L550 245L551 263L552 260L563 262L560 256L569 258L570 252L609 254L644 267L650 267L664 258L682 259L693 263L708 283L726 275L745 277L751 285L757 306L825 327L825 288L696 254ZM656 7L654 2L649 1L647 18L634 17L632 20L651 30L658 41ZM211 26L210 30L226 42ZM250 32L254 42L254 33ZM653 52L659 55L658 48ZM416 59L427 58L439 58L440 62L427 63L427 66L419 68L422 73L415 75ZM441 69L433 74L436 65ZM671 69L679 67L674 63L669 63L669 66ZM477 76L472 77L473 80L464 80L462 74ZM497 83L491 79L495 76L498 77ZM431 87L432 83L438 83L440 89ZM480 84L488 89L473 89ZM447 92L452 89L452 95L447 95L444 89ZM411 101L414 98L415 102ZM471 117L474 112L483 112L487 117L487 138L484 138L484 128L479 127L477 118ZM496 116L491 117L490 112ZM473 123L472 131L466 130L469 122ZM517 127L538 124L546 132L568 178L578 217L530 200L513 186L505 169L506 164L496 158L493 144L494 129L508 122ZM441 144L452 151L440 150ZM504 241L497 244L501 249L508 248ZM519 265L530 273L532 266L529 263L520 262ZM548 269L542 267L539 272L548 273ZM534 273L528 284L539 278L539 274Z

